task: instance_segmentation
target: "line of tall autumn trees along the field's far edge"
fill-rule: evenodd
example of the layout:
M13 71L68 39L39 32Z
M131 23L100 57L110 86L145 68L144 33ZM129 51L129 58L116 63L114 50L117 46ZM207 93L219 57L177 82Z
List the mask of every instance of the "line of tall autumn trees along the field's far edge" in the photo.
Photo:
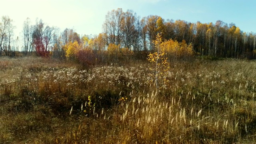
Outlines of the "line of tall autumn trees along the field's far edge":
M164 20L157 15L140 18L132 10L124 12L122 8L118 8L106 14L102 24L103 31L98 35L80 36L69 28L60 32L58 28L50 27L42 20L36 20L33 25L30 18L27 18L23 23L22 38L13 38L15 26L12 23L8 16L2 16L0 55L11 56L17 51L19 39L23 41L19 50L24 54L36 52L39 56L69 57L67 51L70 46L76 46L77 50L70 49L69 52L76 53L84 49L103 53L113 46L135 54L152 52L156 49L154 40L159 33L164 41L173 40L192 45L192 50L198 56L255 58L256 53L255 33L243 32L234 23L227 24L221 20L215 23L192 23L185 20Z

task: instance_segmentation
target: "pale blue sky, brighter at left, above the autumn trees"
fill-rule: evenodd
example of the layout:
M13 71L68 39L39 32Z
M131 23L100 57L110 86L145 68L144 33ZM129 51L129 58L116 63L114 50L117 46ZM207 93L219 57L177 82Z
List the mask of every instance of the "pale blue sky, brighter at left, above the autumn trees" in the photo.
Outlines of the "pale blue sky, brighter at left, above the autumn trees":
M73 28L80 35L97 35L108 11L130 9L140 18L158 15L167 19L202 23L222 20L243 32L256 32L256 0L1 0L0 16L13 20L15 36L22 35L23 22L30 18L58 27Z

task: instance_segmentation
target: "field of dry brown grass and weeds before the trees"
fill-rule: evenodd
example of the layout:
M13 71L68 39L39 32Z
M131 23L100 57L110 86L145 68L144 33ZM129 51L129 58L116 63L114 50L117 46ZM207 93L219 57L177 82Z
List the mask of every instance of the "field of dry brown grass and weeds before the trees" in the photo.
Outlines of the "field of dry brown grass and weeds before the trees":
M256 62L0 58L0 143L253 143Z

